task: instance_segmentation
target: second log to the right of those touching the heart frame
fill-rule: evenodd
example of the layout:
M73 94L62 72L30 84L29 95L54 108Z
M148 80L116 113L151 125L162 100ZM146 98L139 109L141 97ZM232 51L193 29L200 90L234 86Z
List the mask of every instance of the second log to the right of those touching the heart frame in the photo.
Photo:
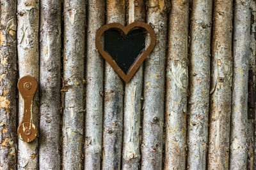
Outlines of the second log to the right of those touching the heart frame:
M192 1L188 169L205 169L208 137L212 0Z

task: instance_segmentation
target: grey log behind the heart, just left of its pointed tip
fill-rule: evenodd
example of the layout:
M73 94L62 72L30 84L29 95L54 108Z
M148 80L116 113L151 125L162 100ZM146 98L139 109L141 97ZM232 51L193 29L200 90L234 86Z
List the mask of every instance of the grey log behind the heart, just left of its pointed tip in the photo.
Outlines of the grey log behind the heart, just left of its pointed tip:
M126 0L107 0L107 22L125 24ZM122 155L124 83L106 62L102 169L120 169Z

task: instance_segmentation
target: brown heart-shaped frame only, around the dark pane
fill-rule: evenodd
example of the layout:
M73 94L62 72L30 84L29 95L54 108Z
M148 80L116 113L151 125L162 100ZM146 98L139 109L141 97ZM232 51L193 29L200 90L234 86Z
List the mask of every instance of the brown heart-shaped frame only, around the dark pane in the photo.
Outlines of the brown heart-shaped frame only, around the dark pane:
M132 66L129 68L129 71L127 74L120 69L120 67L116 64L115 60L102 48L101 45L101 37L104 34L105 31L109 29L117 29L119 31L124 32L125 35L129 33L134 28L142 28L145 29L149 36L150 36L150 45L147 47L144 52L141 53L141 55L134 61ZM146 24L145 22L132 22L132 24L127 25L126 27L122 24L119 23L111 23L111 24L106 24L103 27L101 27L96 34L95 38L95 43L96 47L99 50L99 53L102 55L102 57L108 62L108 64L113 67L115 72L126 82L128 83L132 76L136 73L136 71L139 69L140 65L143 63L143 61L147 58L147 56L152 52L154 49L155 43L156 43L156 35L152 27L150 25Z

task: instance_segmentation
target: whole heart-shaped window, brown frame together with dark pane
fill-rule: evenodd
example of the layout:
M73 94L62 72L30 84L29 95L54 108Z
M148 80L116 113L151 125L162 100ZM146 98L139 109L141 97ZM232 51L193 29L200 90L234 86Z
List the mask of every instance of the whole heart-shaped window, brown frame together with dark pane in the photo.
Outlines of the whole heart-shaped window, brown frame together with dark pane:
M145 49L147 32L150 45ZM103 34L104 44L101 43ZM97 32L95 43L102 57L127 83L154 49L155 41L156 37L150 25L136 21L127 27L119 23L104 25Z

